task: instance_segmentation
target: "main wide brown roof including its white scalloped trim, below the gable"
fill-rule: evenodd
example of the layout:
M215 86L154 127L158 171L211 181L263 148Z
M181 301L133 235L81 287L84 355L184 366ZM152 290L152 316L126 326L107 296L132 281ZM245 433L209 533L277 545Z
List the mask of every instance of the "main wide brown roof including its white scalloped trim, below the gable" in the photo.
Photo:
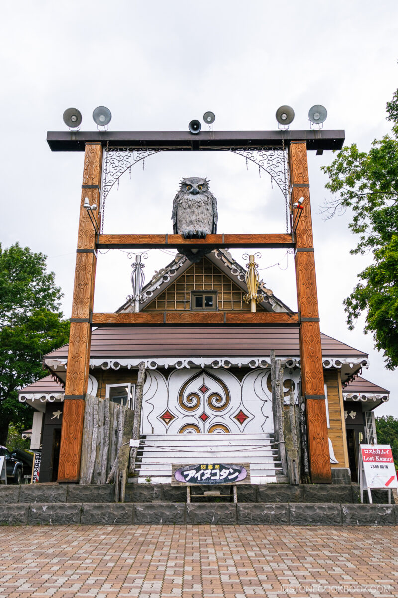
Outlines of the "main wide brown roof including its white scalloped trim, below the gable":
M366 353L321 334L325 368L341 370L343 381L368 366ZM298 328L163 325L97 328L92 331L90 367L267 367L271 349L289 367L300 365ZM44 356L57 376L66 370L68 346Z

